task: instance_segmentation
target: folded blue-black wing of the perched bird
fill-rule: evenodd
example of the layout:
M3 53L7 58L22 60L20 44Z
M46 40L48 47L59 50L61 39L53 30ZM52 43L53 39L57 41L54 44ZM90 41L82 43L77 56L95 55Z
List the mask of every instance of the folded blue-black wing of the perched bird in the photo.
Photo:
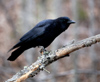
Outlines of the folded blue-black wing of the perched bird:
M20 41L29 41L31 39L35 39L38 36L42 35L47 27L49 27L52 23L52 20L44 20L38 23L33 29L27 32Z

